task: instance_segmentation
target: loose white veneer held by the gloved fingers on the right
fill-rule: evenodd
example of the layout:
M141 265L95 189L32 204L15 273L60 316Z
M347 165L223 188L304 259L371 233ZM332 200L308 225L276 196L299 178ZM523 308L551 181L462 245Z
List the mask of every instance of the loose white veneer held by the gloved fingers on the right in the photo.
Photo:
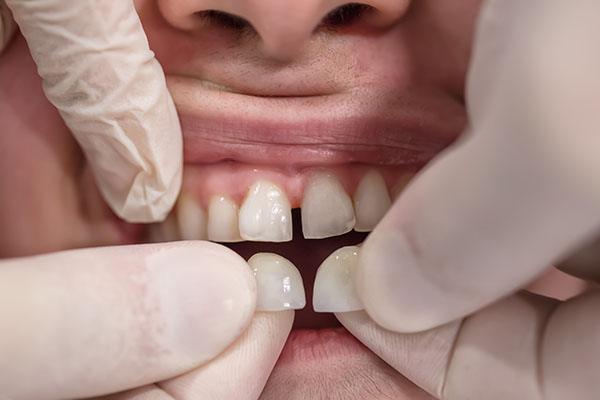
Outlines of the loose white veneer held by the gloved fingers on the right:
M354 268L359 248L342 247L334 251L319 267L313 289L316 312L347 312L362 310L354 288Z

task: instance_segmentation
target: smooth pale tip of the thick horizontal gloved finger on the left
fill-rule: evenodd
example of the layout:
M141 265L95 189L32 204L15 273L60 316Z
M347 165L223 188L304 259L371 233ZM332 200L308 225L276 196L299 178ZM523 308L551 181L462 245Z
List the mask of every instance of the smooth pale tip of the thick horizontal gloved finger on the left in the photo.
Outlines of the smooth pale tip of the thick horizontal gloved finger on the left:
M157 285L171 350L207 361L246 329L256 283L235 252L210 242L177 242L145 259Z

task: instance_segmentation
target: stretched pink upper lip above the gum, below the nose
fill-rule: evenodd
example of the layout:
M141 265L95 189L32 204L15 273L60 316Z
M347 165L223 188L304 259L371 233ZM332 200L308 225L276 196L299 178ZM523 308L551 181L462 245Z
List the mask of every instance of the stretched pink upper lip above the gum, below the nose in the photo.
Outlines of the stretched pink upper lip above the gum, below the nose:
M406 102L348 92L254 96L172 76L168 85L188 164L424 164L456 139L466 120L457 102L418 93Z

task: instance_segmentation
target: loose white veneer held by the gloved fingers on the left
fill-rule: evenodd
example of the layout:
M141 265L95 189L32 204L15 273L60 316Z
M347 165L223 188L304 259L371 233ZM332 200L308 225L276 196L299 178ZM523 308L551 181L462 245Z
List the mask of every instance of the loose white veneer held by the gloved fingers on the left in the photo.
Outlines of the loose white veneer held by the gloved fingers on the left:
M306 305L304 285L298 269L273 253L258 253L248 264L256 278L257 311L299 310Z

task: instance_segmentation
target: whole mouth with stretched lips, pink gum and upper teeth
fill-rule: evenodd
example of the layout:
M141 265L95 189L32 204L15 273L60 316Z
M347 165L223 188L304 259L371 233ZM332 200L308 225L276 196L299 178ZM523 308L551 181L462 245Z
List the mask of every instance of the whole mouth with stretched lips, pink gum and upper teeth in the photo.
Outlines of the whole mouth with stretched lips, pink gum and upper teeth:
M317 271L366 239L464 119L418 96L418 106L381 112L335 95L257 97L181 77L168 83L184 135L183 189L149 241L210 240L253 268L258 253L293 264L277 275L289 292L282 309L296 314L275 370L356 353L376 358L332 312L314 311Z

